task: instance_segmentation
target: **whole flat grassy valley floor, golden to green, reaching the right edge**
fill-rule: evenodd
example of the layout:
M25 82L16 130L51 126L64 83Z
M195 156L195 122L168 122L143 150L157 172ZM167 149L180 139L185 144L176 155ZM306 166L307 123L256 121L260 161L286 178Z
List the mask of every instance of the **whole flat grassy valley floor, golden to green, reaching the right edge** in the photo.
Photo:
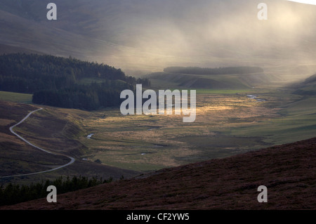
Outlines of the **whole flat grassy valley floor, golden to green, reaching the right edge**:
M183 123L182 115L100 110L82 121L86 133L79 141L91 150L89 161L154 171L312 138L315 100L286 89L199 89L193 123Z

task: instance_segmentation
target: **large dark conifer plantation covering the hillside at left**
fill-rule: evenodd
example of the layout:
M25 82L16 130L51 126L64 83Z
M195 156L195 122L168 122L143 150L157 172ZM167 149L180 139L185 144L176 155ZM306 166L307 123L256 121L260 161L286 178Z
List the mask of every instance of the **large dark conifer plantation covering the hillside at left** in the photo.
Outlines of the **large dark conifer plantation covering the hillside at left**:
M91 81L82 83L81 80ZM74 58L14 53L0 56L0 91L32 93L33 103L97 110L121 104L124 89L150 87L149 79L126 76L120 69Z

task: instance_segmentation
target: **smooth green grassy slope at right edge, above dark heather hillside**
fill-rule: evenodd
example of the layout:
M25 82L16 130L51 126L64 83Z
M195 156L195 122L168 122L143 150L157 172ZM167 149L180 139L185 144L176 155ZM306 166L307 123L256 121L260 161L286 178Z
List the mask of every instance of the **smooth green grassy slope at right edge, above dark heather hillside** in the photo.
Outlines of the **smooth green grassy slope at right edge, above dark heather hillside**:
M284 105L280 117L231 129L235 136L263 136L272 144L289 143L315 137L316 97Z

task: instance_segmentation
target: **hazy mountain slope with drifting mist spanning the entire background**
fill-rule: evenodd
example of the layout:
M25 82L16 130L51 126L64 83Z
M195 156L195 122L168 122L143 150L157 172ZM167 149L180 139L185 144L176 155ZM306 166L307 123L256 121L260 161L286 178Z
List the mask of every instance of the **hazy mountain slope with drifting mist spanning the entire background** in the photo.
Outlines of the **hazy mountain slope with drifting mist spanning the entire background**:
M48 21L49 2L1 1L0 44L147 73L315 64L315 6L265 1L269 18L261 21L250 0L55 0L58 20Z

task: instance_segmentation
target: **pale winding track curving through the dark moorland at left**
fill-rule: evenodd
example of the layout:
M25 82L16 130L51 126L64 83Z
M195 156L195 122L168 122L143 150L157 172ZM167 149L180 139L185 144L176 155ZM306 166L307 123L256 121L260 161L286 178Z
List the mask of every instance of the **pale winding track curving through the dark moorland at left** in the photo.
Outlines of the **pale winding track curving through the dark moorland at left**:
M25 121L31 114L33 114L34 112L37 112L37 111L39 111L39 110L43 110L43 108L40 108L40 109L38 109L38 110L34 110L34 111L32 111L32 112L29 112L29 114L27 114L27 116L26 116L25 118L23 118L18 124L15 124L15 125L11 126L11 127L10 127L10 131L11 131L11 133L15 134L15 136L18 136L18 138L20 138L21 140L25 141L25 143L31 145L32 147L37 148L38 150L44 151L44 152L49 153L49 154L59 155L59 154L55 154L55 153L53 153L53 152L49 152L49 151L47 151L47 150L44 150L44 149L42 149L41 147L38 147L38 146L36 146L36 145L33 145L32 143L29 143L28 140L26 140L25 138L19 136L18 133L15 133L15 131L13 131L13 128L14 128L15 126L18 126L19 124L22 124L22 122ZM65 156L65 157L68 157L68 156ZM57 170L57 169L61 169L61 168L65 167L65 166L69 166L70 164L73 164L73 163L74 163L74 160L75 160L74 158L72 158L72 157L68 157L68 158L70 159L70 162L69 162L69 163L67 163L67 164L65 164L65 165L62 165L62 166L58 166L58 167L56 167L56 168L54 168L54 169L50 169L50 170L48 170L48 171L39 171L39 172L36 172L36 173L26 173L26 174L12 175L12 176L0 176L0 178L11 178L11 177L16 177L16 176L29 176L29 175L34 175L34 174L38 174L38 173L47 173L47 172L55 171L55 170Z

